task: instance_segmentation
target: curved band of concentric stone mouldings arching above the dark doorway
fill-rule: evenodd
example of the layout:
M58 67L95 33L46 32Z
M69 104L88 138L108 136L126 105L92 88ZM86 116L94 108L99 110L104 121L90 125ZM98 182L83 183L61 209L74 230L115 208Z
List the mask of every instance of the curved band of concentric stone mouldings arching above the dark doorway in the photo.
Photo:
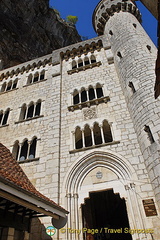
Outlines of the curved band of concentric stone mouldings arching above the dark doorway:
M113 171L124 184L137 179L134 168L124 157L111 151L94 151L79 158L70 167L64 179L63 192L78 193L83 179L98 166Z

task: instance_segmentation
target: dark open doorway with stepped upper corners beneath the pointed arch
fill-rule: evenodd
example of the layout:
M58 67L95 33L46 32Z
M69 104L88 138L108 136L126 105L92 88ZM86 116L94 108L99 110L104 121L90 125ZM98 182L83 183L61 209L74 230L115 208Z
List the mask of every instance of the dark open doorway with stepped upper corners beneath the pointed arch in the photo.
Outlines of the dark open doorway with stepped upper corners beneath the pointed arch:
M81 209L84 240L132 240L125 199L113 189L90 192Z

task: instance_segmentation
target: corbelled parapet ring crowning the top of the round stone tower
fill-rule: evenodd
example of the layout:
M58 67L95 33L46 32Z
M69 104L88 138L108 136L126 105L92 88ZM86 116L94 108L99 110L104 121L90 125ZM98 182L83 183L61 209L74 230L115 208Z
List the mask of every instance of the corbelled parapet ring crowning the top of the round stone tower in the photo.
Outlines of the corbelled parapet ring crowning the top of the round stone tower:
M102 0L93 13L93 26L98 35L104 34L104 27L114 13L129 12L141 22L141 13L132 1L128 0Z

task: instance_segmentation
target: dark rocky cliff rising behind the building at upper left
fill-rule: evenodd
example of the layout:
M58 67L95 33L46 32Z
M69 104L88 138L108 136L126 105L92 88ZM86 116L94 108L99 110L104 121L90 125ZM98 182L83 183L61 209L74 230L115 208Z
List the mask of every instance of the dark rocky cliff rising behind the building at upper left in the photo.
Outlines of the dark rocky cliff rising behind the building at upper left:
M79 41L76 28L49 8L49 0L0 0L1 69Z

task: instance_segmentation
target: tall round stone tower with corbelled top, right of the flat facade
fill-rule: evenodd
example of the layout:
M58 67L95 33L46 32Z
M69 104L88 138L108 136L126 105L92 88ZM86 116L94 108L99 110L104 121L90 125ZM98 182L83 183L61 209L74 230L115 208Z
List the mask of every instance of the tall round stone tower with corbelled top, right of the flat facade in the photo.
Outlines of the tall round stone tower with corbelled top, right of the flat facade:
M139 10L132 1L101 1L93 15L97 33L104 34L110 41L145 166L160 206L160 115L159 100L153 97L157 49L140 21Z

